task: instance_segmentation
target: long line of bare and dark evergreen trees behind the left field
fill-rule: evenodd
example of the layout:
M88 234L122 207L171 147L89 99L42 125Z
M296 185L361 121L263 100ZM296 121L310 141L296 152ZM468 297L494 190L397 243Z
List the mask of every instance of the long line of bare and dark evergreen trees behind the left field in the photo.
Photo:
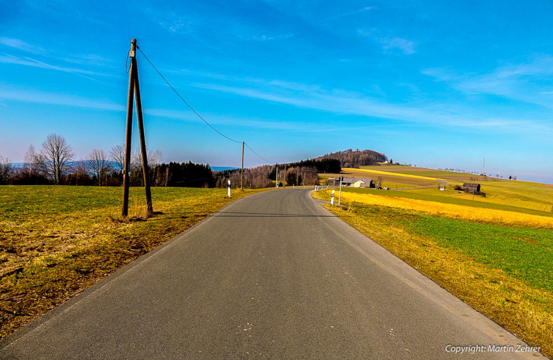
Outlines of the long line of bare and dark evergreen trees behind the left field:
M367 154L367 151L371 153ZM343 159L354 158L351 155L345 156L350 152L340 152L342 160L325 155L299 162L246 168L243 186L272 187L276 182L277 169L280 186L315 185L319 183L319 172L340 173ZM361 155L363 154L369 156L372 151L363 150ZM39 150L33 145L29 146L23 166L13 166L9 159L0 156L0 184L121 186L124 157L124 145L116 145L107 152L94 149L84 159L75 160L75 153L65 138L58 134L49 134ZM369 157L371 161L382 158L372 155ZM367 164L363 156L355 158L355 164ZM239 188L242 184L241 169L213 171L208 164L192 161L164 163L163 154L159 150L149 150L147 160L152 186L226 188L228 180L231 180L233 188ZM346 165L351 166L351 163L347 162ZM144 185L142 153L138 149L131 154L129 179L131 186Z

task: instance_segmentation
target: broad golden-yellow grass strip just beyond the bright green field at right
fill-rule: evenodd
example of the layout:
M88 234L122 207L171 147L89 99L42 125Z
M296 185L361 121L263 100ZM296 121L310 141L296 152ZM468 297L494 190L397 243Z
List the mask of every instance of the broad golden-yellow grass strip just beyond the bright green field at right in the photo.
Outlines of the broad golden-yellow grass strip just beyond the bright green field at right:
M444 204L426 200L395 198L382 195L342 192L342 201L392 208L410 209L434 216L446 216L451 219L475 221L489 224L524 225L553 229L553 218L513 211L466 207L456 204Z

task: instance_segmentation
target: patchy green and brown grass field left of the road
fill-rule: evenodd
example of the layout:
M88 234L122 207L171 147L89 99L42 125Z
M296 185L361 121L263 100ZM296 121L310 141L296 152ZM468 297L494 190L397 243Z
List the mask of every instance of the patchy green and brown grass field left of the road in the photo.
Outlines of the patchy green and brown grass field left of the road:
M45 314L233 200L262 190L0 187L0 338Z

